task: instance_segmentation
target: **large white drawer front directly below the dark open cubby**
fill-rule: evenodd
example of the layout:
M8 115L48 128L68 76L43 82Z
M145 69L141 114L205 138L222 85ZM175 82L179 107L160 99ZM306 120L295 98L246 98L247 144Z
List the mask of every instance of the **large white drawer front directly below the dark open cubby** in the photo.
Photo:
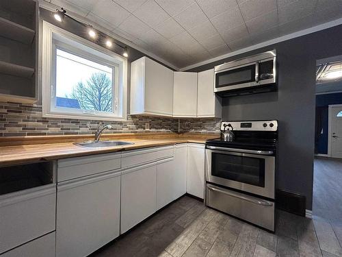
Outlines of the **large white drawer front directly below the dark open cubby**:
M55 230L55 185L20 193L0 198L0 253Z

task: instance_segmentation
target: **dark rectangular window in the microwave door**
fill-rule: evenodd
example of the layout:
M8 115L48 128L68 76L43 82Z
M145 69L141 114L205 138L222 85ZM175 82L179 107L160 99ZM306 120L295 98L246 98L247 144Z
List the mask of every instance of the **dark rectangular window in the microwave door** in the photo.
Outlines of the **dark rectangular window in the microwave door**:
M216 88L255 81L255 64L216 73Z

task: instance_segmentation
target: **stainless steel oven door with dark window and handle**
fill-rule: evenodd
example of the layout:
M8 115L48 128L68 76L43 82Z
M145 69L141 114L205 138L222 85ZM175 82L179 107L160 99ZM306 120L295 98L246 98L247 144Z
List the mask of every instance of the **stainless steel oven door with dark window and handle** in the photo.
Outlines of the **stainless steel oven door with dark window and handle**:
M263 151L236 149L248 152L244 153L216 148L221 149L206 149L207 182L274 199L274 156L258 154Z

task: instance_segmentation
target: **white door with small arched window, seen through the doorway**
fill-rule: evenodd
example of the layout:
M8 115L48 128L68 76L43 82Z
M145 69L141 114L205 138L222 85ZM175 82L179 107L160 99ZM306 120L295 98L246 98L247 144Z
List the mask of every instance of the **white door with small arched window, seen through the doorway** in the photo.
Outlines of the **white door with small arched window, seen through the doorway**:
M331 157L342 158L342 106L331 108Z

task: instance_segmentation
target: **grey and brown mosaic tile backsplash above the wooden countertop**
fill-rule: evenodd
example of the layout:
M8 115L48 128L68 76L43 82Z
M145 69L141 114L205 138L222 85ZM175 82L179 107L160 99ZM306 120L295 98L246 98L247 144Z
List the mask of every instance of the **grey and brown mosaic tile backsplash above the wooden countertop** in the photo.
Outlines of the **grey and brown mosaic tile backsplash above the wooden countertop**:
M90 122L92 130L87 126ZM42 117L42 106L0 102L0 136L47 136L92 134L100 121L79 119L55 119ZM172 119L159 117L128 116L127 121L103 121L113 130L105 133L144 132L220 132L220 119ZM145 130L149 123L150 130Z

